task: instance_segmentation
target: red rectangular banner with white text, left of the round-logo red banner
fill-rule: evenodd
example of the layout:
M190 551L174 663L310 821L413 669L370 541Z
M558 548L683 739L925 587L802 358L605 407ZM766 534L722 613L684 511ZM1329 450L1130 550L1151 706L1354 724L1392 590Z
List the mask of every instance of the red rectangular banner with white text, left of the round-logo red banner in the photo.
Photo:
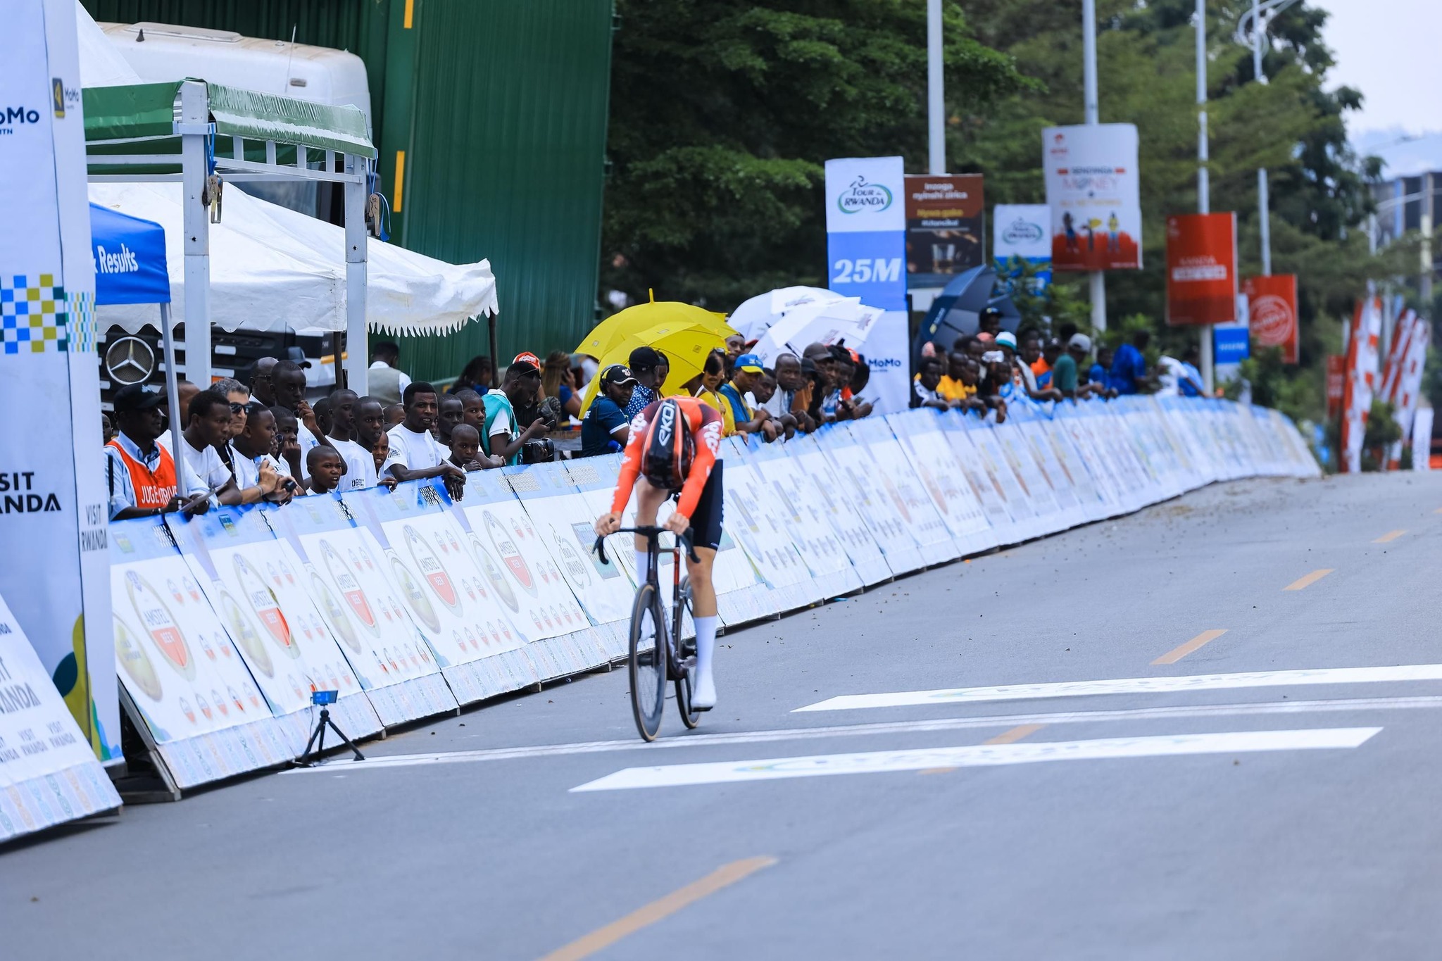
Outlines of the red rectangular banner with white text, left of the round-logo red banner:
M1237 320L1237 215L1167 218L1167 323L1230 324Z

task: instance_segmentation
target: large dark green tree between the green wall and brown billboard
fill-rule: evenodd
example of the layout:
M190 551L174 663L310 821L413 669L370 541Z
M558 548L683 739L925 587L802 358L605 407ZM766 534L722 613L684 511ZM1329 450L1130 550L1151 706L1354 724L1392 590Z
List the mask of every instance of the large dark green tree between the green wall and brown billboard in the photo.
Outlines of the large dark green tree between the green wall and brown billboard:
M730 308L825 285L828 157L924 170L924 0L617 0L604 287ZM947 89L1034 88L945 4Z

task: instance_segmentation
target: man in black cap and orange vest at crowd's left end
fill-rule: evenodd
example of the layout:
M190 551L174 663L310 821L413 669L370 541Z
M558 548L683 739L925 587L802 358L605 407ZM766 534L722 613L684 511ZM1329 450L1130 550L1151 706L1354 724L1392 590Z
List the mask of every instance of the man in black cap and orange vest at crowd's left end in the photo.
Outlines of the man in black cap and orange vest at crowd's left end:
M105 445L110 519L151 517L170 510L203 514L211 506L205 483L185 462L156 444L164 429L164 395L141 383L115 392L115 438Z

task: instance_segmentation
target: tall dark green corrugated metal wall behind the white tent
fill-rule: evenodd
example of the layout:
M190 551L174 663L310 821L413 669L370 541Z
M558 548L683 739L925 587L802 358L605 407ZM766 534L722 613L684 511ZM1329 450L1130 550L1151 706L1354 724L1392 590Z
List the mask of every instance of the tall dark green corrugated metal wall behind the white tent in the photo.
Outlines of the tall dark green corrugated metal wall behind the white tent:
M366 63L392 242L489 258L499 353L570 349L596 310L611 0L82 0L154 20L346 49ZM410 26L407 26L410 13ZM401 343L415 377L489 353L486 323Z

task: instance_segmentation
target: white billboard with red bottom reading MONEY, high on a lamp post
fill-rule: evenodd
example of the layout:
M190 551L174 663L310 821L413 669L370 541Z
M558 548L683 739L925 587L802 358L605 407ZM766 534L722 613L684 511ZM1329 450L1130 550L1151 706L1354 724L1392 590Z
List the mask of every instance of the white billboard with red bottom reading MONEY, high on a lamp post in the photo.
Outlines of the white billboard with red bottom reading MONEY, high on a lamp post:
M1133 124L1041 131L1053 269L1141 269L1142 197L1136 143Z

